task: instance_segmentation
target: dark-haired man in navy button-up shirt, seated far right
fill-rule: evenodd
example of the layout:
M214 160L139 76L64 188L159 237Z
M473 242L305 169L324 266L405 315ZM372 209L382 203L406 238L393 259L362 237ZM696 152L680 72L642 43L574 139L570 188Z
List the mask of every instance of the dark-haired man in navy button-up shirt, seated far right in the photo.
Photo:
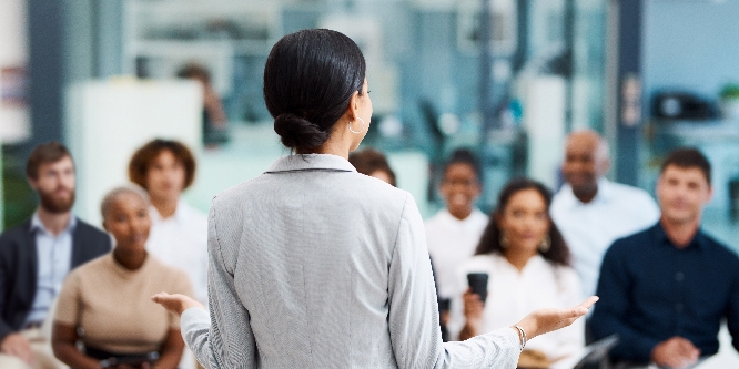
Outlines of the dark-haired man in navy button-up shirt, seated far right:
M591 329L618 334L610 355L624 367L682 368L713 355L723 318L739 349L739 258L700 229L710 177L699 151L674 151L657 182L659 222L606 253Z

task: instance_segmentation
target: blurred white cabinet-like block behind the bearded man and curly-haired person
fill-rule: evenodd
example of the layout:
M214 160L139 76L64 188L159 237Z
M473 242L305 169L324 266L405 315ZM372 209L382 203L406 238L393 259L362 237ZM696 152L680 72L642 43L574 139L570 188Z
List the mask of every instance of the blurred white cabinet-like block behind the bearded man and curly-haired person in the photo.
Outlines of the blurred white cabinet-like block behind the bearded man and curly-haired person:
M100 225L100 201L128 183L133 152L155 137L201 145L200 85L192 81L90 81L67 92L67 141L77 164L75 214Z

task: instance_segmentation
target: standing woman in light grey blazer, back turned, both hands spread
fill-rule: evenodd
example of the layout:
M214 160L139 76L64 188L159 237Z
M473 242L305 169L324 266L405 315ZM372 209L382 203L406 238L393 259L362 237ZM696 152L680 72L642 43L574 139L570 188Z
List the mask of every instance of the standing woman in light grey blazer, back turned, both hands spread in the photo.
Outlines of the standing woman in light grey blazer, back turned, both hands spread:
M285 35L267 57L264 99L296 154L213 199L212 318L190 298L153 297L182 314L206 368L513 368L522 331L565 327L593 305L443 344L413 197L347 162L372 116L358 47L330 30Z

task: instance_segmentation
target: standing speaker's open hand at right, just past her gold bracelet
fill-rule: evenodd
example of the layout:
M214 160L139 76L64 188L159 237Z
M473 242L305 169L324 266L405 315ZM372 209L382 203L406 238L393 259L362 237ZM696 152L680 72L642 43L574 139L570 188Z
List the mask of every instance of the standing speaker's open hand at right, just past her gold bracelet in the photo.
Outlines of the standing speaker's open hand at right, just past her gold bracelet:
M569 309L539 309L524 317L517 326L524 328L528 340L571 325L586 315L597 300L597 296L590 296L580 305Z

